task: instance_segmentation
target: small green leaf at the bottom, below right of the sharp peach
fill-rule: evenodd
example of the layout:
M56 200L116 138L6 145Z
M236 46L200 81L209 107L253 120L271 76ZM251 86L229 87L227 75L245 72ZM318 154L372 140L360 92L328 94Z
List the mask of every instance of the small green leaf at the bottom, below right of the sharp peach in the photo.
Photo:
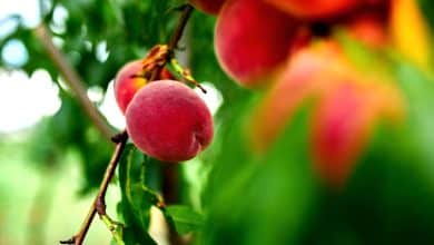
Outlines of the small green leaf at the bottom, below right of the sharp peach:
M167 206L166 215L174 222L175 228L179 234L196 232L204 225L204 217L191 207L184 205Z

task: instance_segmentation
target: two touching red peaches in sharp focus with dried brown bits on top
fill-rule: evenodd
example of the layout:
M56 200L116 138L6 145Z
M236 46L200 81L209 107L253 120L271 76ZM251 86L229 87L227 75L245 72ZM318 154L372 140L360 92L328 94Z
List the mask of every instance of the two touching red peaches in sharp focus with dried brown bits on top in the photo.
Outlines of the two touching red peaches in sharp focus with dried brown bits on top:
M179 163L210 144L214 126L204 100L156 66L166 56L167 46L156 46L145 59L126 63L115 78L115 97L137 148L161 161Z

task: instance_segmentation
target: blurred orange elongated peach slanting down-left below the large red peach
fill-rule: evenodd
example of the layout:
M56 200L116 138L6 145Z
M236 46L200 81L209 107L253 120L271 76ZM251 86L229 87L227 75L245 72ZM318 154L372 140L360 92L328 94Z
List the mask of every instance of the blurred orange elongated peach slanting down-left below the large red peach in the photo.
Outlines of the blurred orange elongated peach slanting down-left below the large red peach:
M342 53L334 42L315 43L294 52L249 120L255 151L266 150L300 104L325 86L320 78L328 72L326 70L343 72L345 66L341 59Z

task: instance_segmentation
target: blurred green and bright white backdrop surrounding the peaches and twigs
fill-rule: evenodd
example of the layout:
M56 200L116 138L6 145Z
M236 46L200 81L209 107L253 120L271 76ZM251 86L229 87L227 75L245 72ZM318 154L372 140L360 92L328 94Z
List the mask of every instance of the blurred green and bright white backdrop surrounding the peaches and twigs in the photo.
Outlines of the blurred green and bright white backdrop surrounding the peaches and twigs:
M125 119L114 98L116 71L167 42L181 3L0 0L0 244L69 238L114 149L83 111L58 61L47 55L40 30L80 76L112 131L119 131ZM417 4L431 31L434 2ZM215 21L195 11L177 52L208 90L198 95L216 124L211 147L178 169L178 203L205 217L188 216L185 224L196 232L196 242L434 244L433 62L421 68L405 57L387 56L408 108L405 124L378 126L346 186L336 192L313 174L309 107L297 111L267 153L248 147L245 125L264 92L239 87L220 69L213 46ZM411 24L403 27L410 36ZM149 173L147 183L159 192L164 171L157 164ZM115 179L107 198L114 217L121 192ZM109 244L111 235L97 219L87 243Z

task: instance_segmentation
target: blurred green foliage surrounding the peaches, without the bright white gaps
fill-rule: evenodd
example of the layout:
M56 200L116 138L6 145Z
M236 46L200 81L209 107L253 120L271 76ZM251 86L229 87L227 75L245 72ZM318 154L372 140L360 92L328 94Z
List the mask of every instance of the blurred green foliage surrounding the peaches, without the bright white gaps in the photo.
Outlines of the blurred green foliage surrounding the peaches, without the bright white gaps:
M116 71L141 58L156 43L167 42L176 24L181 0L79 0L45 1L41 12L59 49L88 87L107 89ZM434 27L434 2L421 0ZM56 11L65 9L65 22ZM47 70L55 81L59 71L20 19L16 30L0 40L0 50L21 40L29 60L19 67L31 75ZM246 144L245 125L260 92L236 86L220 70L213 50L215 18L195 12L185 47L188 63L199 81L211 82L224 104L215 116L211 147L198 157L195 183L181 177L185 193L198 188L200 207L181 195L183 206L162 208L180 233L194 232L197 244L433 244L434 243L434 80L417 68L394 60L396 86L407 101L406 121L398 127L381 125L357 169L343 192L325 188L317 180L308 156L309 105L269 151L253 154ZM100 59L105 47L107 59ZM184 50L185 49L185 50ZM1 60L6 68L8 63ZM77 153L81 164L81 193L95 189L109 161L112 145L106 141L82 112L70 91L61 89L62 106L46 118L29 138L31 157L40 169L56 167L62 156ZM193 164L193 163L187 163ZM188 170L187 166L183 166ZM184 173L184 171L181 171ZM126 244L155 244L148 235L150 207L161 190L159 163L128 145L119 166L121 199L119 219ZM206 182L200 175L206 175ZM191 199L189 199L191 198ZM2 199L2 198L1 198ZM108 204L115 205L115 204ZM53 214L56 215L56 214ZM1 222L1 219L0 219Z

